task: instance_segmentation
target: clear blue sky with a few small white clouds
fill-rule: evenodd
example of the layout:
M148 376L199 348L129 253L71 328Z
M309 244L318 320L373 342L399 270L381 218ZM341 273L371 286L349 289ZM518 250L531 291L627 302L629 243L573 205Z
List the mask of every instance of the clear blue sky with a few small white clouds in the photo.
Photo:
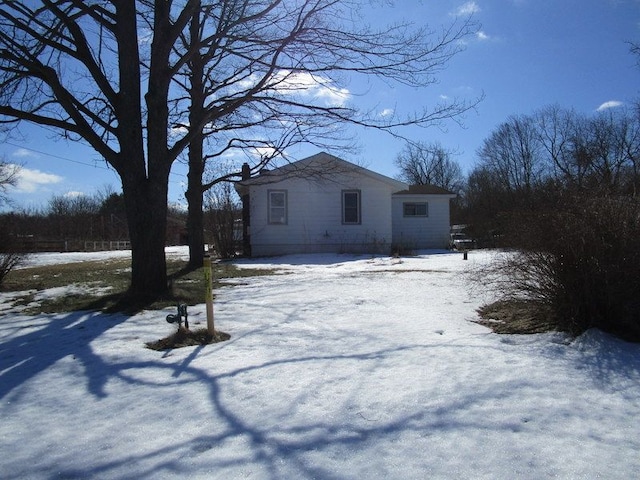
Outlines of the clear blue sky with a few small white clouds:
M473 168L482 141L510 115L551 104L589 114L640 100L640 59L627 43L640 43L640 0L397 0L371 15L374 22L408 18L437 29L454 15L471 12L480 31L467 39L465 50L438 75L437 84L424 89L376 86L368 98L380 109L406 111L445 97L472 99L484 93L477 111L463 120L464 128L451 122L444 129L406 132L413 140L438 141L457 150L454 159L465 172ZM355 93L358 85L349 88ZM345 159L395 176L393 161L403 143L380 133L355 133L361 151ZM317 152L298 148L289 153L303 158ZM15 205L39 207L52 195L93 194L106 185L120 189L115 172L91 149L55 141L52 132L24 128L22 136L0 144L0 156L23 165L18 188L10 192ZM184 201L185 175L177 164L170 201Z

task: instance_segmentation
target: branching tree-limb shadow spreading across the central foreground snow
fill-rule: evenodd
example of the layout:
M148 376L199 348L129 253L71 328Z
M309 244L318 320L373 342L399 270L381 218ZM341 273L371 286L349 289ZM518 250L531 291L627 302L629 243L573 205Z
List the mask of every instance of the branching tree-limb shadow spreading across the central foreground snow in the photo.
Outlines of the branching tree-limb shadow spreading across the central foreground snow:
M337 480L350 477L334 470L330 462L319 460L318 455L330 459L336 452L358 452L360 449L372 448L377 442L392 441L390 439L403 434L423 437L426 432L433 435L438 431L486 427L511 431L513 426L510 424L490 425L490 420L487 420L486 425L476 424L474 422L478 421L478 417L464 419L458 413L465 412L478 402L496 404L495 408L499 409L500 402L496 400L503 399L505 392L517 390L516 387L521 387L523 380L517 380L516 385L501 385L495 391L487 389L483 394L460 394L446 408L403 409L402 412L395 412L384 419L368 418L360 411L350 411L351 397L347 395L343 404L336 399L338 405L332 405L332 408L336 409L334 413L340 415L314 417L308 423L284 421L282 424L274 424L271 419L265 419L266 422L263 422L255 415L256 412L247 415L246 405L243 405L240 399L229 395L229 392L225 392L225 389L232 388L235 382L241 381L244 375L271 378L278 375L283 368L300 365L337 372L344 362L362 362L365 366L362 373L366 377L368 371L373 373L384 368L385 361L404 350L429 347L409 345L364 353L312 354L269 360L220 373L212 373L210 369L205 370L193 365L195 357L202 354L202 347L195 348L185 359L175 363L147 361L111 364L110 374L130 383L144 382L136 380L140 378L133 374L137 369L159 369L166 371L166 375L163 376L162 383L155 384L157 387L184 388L185 384L188 384L189 388L206 389L211 411L203 416L202 421L210 422L214 432L206 435L196 434L191 438L187 432L182 432L181 435L172 438L170 444L156 446L150 451L140 448L140 451L131 452L124 457L88 467L88 471L73 470L73 466L70 465L56 465L55 468L63 477L74 478L100 475L113 477L125 471L131 478L152 478L177 473L188 477L201 474L203 471L215 471L223 478L225 469L240 469L247 475L251 473L260 478L273 480L294 477ZM216 355L224 355L225 346L214 348ZM352 379L347 385L350 394L358 391L357 379ZM278 405L277 408L283 412L288 409L293 413L301 402L313 398L316 393L314 387L322 388L322 379L317 379L316 385L310 385L310 388L305 390L305 398L292 396L287 399L286 405ZM236 442L242 447L230 449L229 445ZM334 460L338 464L341 463L340 458Z

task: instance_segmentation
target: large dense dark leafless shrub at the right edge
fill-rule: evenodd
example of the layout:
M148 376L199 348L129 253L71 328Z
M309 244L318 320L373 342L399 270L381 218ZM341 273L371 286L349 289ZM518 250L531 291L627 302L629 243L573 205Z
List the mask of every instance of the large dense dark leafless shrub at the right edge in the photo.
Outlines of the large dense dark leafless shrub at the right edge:
M515 225L516 222L511 222ZM640 341L640 203L565 198L511 229L517 250L494 273L503 296L548 308L559 330L599 328Z

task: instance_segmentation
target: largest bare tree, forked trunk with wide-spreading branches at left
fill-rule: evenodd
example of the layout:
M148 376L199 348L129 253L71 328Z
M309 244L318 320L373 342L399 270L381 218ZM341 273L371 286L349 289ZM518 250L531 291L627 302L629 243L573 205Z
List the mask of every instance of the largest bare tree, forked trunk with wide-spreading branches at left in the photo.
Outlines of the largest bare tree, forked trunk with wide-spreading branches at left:
M310 84L339 95L351 75L431 84L475 29L463 19L441 34L410 24L375 30L356 13L365 3L8 0L0 5L0 121L57 129L116 170L131 238L130 293L161 295L168 176L191 142L207 138L212 156L257 145L281 153L288 139L334 138L338 123L400 135L403 126L473 107L453 102L381 118L305 95Z

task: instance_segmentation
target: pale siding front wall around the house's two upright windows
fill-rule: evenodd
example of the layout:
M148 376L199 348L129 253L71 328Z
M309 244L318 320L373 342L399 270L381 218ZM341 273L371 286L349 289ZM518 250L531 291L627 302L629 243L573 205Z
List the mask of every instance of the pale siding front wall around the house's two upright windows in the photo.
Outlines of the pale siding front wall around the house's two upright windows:
M268 191L286 190L287 224L268 223ZM360 224L342 224L342 191L360 191ZM388 252L391 197L397 185L366 175L333 175L331 181L289 178L250 186L251 254Z

